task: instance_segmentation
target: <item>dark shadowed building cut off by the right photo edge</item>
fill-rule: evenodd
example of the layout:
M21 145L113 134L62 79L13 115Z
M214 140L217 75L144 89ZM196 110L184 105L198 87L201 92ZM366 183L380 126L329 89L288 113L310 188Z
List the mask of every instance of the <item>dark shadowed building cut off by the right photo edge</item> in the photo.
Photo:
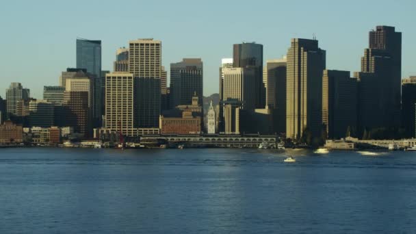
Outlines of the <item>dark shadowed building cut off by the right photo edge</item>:
M407 138L415 137L416 77L402 79L402 127Z

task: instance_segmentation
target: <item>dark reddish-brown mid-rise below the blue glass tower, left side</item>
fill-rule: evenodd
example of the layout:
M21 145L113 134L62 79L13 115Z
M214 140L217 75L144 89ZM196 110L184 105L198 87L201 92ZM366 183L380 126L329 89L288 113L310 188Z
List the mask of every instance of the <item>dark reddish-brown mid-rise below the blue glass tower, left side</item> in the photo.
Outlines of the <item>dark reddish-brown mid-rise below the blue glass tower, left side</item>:
M88 92L65 91L64 107L68 127L74 127L76 133L84 138L91 136L90 108L88 107Z

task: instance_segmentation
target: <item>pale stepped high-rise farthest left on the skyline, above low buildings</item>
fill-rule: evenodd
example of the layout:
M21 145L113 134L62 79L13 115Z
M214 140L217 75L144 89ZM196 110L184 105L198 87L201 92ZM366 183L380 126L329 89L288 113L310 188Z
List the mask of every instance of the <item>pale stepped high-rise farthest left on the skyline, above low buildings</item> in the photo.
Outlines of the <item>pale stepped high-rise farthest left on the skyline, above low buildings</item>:
M10 118L12 115L16 115L16 104L18 101L27 100L29 97L29 89L23 88L21 83L11 83L5 93L8 117Z

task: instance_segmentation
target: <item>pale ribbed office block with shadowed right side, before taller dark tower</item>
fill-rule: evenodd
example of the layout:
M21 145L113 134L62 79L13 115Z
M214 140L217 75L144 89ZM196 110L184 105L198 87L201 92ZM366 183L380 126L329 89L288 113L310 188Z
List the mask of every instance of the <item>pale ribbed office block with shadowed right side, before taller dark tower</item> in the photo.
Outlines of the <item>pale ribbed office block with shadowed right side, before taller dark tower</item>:
M255 109L257 68L223 68L223 99L237 99L242 109Z

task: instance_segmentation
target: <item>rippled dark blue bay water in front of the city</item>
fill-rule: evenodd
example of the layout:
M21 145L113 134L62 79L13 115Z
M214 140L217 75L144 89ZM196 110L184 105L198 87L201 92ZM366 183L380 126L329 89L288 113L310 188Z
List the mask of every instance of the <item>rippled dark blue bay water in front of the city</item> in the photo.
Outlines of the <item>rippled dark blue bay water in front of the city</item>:
M0 149L0 233L414 233L415 182L413 152Z

